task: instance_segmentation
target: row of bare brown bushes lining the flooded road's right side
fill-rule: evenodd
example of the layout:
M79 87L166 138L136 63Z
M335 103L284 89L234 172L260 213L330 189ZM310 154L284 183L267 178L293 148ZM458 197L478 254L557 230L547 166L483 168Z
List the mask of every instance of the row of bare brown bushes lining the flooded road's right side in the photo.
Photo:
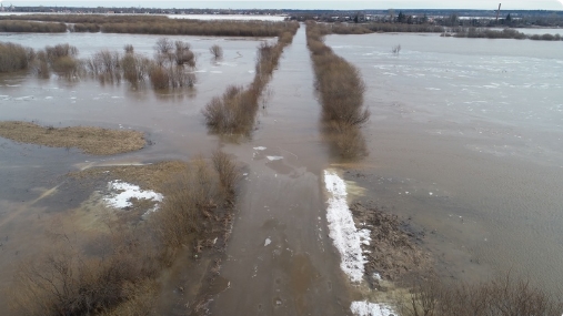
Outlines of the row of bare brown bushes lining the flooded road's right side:
M306 39L326 137L343 159L365 155L360 129L370 119L370 112L363 105L365 86L359 70L324 44L323 31L316 23L306 24Z

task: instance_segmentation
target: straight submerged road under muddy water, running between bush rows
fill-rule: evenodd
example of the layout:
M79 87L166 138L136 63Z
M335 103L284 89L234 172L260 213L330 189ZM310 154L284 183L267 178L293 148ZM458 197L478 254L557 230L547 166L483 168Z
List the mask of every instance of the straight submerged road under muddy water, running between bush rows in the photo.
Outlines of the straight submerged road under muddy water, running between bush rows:
M304 26L285 48L250 143L227 151L248 163L211 315L348 315L350 295L328 237L320 105ZM267 109L265 109L267 108Z

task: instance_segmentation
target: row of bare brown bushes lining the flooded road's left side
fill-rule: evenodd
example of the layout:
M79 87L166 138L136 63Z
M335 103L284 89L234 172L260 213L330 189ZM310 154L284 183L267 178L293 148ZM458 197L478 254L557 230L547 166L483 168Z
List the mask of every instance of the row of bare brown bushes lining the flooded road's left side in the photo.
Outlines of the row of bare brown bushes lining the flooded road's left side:
M299 24L288 23L278 37L278 43L262 42L258 48L254 80L247 89L231 85L221 96L213 98L203 110L209 129L227 135L248 135L254 125L259 98L278 67L283 49L291 43Z

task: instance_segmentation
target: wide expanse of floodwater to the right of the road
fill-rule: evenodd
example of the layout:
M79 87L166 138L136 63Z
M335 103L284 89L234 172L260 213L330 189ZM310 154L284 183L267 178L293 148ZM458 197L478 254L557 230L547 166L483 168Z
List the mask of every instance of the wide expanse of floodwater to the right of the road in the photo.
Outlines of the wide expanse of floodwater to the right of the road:
M326 43L368 86L373 198L470 254L446 261L512 268L560 288L562 44L433 34L332 35Z

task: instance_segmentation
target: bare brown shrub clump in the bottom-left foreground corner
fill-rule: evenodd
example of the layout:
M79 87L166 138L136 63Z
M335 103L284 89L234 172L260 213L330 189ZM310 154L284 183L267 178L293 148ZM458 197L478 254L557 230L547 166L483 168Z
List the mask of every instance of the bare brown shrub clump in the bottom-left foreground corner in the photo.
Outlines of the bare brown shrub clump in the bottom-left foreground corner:
M144 235L120 231L107 236L108 248L101 257L84 256L67 236L58 236L40 259L19 265L11 293L14 310L92 315L139 296L135 287L151 284L143 281L154 278L160 269L155 247Z

